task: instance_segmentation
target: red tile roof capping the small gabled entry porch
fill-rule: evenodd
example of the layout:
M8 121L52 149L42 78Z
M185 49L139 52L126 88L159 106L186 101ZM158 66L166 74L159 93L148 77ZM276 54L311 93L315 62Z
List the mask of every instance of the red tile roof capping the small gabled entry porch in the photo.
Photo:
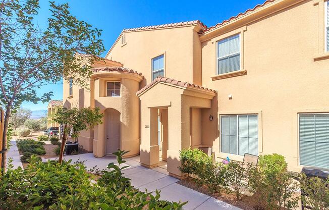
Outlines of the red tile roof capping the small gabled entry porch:
M202 86L199 86L199 85L191 84L191 83L188 83L188 82L182 82L182 81L170 79L170 78L167 78L167 77L158 76L152 82L150 82L148 85L146 85L145 87L143 87L142 89L137 91L136 94L139 95L140 93L144 92L148 88L151 88L153 85L155 85L158 82L173 84L173 85L177 85L177 86L180 86L180 87L191 87L191 88L206 90L206 91L214 92L214 93L216 92L215 90L205 88L205 87L202 87Z

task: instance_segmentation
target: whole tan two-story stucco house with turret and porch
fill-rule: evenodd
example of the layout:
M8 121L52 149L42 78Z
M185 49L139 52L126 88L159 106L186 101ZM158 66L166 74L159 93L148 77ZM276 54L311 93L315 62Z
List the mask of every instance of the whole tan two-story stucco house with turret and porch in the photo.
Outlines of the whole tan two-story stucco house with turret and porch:
M209 28L124 29L91 91L64 82L64 106L105 114L79 144L97 157L140 153L150 168L166 160L179 178L179 151L199 146L216 160L279 153L293 171L329 168L328 11L323 0L270 0Z

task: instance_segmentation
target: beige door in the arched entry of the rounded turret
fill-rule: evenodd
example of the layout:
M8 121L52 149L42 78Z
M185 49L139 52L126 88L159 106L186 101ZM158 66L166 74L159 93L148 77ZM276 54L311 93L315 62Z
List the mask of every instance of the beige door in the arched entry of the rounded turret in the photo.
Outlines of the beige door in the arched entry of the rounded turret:
M120 149L120 113L110 110L106 115L106 154L112 154Z

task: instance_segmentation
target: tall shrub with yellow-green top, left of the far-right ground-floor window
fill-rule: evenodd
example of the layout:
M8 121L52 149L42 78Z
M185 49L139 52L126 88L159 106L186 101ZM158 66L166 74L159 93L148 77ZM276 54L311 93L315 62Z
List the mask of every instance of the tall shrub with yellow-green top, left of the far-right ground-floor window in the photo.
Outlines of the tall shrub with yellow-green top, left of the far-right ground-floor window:
M257 209L294 209L298 198L294 193L298 183L287 173L284 156L268 154L260 156L257 168L249 169L249 189L255 193Z

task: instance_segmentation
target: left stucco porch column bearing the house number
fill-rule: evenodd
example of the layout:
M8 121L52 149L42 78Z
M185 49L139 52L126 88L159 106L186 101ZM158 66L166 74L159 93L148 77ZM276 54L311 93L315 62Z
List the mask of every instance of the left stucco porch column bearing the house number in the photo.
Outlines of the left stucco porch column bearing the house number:
M154 168L159 163L159 145L157 140L157 115L158 109L144 108L141 118L142 139L140 162L142 166Z

